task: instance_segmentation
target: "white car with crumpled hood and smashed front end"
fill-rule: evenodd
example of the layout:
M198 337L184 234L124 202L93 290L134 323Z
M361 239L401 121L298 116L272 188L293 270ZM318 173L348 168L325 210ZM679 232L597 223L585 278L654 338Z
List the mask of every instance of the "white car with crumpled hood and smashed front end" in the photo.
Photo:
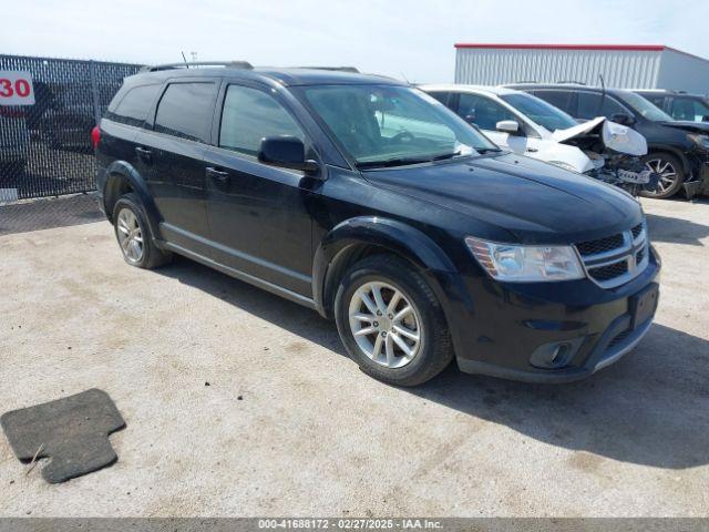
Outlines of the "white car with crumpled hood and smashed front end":
M455 84L419 89L503 149L633 193L651 182L651 173L638 158L647 154L647 142L630 127L603 116L579 124L544 100L512 89Z

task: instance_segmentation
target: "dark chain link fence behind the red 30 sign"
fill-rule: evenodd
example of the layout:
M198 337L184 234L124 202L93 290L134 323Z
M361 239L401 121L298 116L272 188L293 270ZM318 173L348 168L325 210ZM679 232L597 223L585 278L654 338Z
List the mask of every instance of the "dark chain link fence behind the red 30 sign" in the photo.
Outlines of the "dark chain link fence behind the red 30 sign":
M91 130L140 64L0 54L30 72L33 105L0 104L0 202L95 188Z

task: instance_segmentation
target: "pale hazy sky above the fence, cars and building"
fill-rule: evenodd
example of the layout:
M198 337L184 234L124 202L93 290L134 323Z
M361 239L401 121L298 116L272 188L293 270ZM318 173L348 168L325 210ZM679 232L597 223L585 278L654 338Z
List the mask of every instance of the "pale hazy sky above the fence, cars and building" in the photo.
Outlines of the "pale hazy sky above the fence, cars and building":
M708 0L0 0L0 53L352 65L452 82L456 42L666 44L709 59Z

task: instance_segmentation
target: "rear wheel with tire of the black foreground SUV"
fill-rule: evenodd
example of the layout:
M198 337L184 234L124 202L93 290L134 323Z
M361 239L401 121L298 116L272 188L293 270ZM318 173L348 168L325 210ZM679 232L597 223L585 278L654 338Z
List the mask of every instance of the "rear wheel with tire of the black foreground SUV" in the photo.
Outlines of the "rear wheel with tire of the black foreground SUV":
M131 266L153 269L169 263L172 253L160 249L151 237L138 196L127 193L113 206L113 228L123 259Z

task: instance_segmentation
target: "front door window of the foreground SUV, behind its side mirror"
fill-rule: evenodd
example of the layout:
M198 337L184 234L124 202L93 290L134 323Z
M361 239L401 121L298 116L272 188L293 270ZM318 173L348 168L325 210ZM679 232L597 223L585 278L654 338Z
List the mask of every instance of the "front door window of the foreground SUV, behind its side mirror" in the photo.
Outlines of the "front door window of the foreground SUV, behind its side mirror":
M305 137L288 111L271 95L230 85L224 99L219 146L256 155L264 137L277 135Z

